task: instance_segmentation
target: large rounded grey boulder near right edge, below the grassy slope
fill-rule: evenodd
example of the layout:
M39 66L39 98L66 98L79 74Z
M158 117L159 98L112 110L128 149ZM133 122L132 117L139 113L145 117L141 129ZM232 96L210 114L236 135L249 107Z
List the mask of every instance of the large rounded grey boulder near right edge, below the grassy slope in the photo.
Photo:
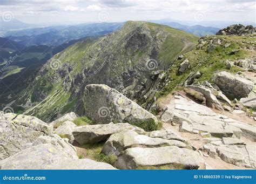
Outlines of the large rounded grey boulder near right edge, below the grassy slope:
M224 94L234 98L246 97L254 87L253 81L226 71L217 72L213 80Z

